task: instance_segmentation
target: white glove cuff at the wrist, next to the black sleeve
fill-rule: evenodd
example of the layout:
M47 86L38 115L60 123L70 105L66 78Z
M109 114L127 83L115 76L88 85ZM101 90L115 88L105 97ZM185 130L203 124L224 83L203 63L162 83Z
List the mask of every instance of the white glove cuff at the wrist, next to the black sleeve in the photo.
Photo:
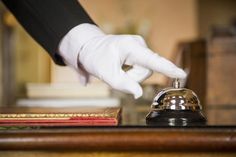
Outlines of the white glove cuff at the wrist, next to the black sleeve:
M59 44L59 54L63 58L66 65L84 75L85 71L80 63L78 63L79 53L85 43L92 38L104 36L105 34L93 24L83 23L72 28L61 40Z

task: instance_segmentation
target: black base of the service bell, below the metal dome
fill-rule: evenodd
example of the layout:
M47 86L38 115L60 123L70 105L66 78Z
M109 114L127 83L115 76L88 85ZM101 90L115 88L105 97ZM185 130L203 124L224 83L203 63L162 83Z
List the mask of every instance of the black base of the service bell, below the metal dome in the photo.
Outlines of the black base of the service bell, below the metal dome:
M148 126L202 126L206 118L201 111L191 110L152 110L146 117Z

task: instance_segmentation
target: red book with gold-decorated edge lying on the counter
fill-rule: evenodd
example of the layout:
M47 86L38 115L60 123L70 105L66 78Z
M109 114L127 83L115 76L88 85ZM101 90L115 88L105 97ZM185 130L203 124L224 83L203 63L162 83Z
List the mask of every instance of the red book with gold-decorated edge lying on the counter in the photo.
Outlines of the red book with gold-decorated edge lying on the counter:
M0 126L116 126L120 123L120 115L120 108L64 113L0 113Z

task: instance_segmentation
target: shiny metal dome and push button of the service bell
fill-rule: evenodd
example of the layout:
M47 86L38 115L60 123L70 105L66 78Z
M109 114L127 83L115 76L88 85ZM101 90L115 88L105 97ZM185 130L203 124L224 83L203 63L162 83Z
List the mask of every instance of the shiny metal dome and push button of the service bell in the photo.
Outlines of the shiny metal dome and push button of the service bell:
M174 80L173 87L165 88L154 98L152 110L191 110L202 109L197 95L190 89L180 88L178 79Z

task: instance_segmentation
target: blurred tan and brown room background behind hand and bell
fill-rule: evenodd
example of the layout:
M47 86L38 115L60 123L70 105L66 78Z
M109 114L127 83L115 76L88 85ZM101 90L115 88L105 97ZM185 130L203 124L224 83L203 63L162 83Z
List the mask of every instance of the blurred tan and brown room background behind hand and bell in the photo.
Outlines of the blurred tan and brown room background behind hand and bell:
M236 124L235 0L81 0L106 33L139 34L149 47L188 73L183 86L196 92L210 125ZM143 124L158 90L171 79L153 74L144 95L112 90L55 65L0 5L0 107L122 106L124 124ZM63 21L62 21L63 22Z

